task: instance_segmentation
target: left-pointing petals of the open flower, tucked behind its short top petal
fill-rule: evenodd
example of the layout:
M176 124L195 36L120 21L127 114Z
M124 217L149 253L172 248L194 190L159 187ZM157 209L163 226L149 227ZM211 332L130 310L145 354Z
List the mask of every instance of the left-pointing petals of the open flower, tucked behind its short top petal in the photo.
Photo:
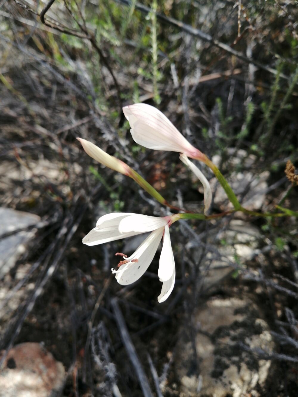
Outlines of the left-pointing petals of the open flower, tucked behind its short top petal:
M131 215L133 214L127 212L115 212L113 214L101 216L96 223L96 227L89 231L89 233L83 238L83 243L86 245L97 245L139 234L138 231L130 231L128 233L119 231L119 223L121 220Z

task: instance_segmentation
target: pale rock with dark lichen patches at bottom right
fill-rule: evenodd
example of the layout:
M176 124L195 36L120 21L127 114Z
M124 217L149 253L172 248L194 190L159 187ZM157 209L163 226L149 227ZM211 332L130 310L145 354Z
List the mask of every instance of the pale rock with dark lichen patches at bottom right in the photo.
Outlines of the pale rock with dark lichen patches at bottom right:
M196 353L199 368L192 361L192 343L186 333L177 346L175 370L181 395L195 397L259 397L273 371L270 360L260 360L238 344L259 347L268 353L274 348L269 326L260 318L259 308L248 298L215 298L194 313L197 324Z

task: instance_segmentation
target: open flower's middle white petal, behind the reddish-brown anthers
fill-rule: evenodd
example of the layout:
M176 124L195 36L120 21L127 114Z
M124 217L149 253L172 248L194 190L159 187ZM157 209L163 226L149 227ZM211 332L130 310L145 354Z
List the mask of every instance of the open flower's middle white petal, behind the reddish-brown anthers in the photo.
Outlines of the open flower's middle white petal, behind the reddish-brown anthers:
M116 280L121 285L132 284L137 281L151 264L159 242L163 237L164 228L154 230L136 251L127 260L138 259L138 262L129 262L120 267L116 274Z

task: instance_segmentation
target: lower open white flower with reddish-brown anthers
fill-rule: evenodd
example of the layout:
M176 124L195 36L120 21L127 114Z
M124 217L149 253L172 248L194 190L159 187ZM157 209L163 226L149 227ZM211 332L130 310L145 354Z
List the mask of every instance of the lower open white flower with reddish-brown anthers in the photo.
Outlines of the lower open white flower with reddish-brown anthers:
M163 237L158 270L159 279L163 281L163 285L161 294L157 298L161 303L169 297L175 283L175 262L169 226L178 219L178 215L159 218L122 212L106 214L99 218L96 227L83 238L83 243L87 245L103 244L151 231L151 234L136 251L125 258L125 263L118 270L112 269L112 272L116 273L118 283L128 285L134 283L146 272ZM135 259L137 261L134 261Z

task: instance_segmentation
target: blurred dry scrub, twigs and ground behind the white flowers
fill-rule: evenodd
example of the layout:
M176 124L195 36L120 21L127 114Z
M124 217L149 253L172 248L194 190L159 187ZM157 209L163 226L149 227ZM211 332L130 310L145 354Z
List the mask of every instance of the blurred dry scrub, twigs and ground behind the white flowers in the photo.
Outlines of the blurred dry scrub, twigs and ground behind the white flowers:
M298 164L297 21L296 1L0 0L1 205L41 218L1 274L1 349L43 342L66 368L59 395L297 395L296 218L177 222L177 281L159 305L157 258L134 285L109 278L114 252L132 252L139 241L86 247L81 239L103 214L167 210L75 139L127 162L173 205L202 211L202 191L177 154L132 140L122 106L145 102L217 162L244 206L297 211L298 188L284 174L288 160ZM222 212L228 202L204 172L212 212ZM246 232L252 238L237 240ZM229 385L216 394L202 376L197 316L214 299L235 297L254 305L273 347L239 342L232 357L244 360L245 351L245 360L267 360L270 371L242 394ZM119 310L148 390L126 350ZM242 321L244 336L252 321ZM219 378L232 365L224 343L214 353Z

